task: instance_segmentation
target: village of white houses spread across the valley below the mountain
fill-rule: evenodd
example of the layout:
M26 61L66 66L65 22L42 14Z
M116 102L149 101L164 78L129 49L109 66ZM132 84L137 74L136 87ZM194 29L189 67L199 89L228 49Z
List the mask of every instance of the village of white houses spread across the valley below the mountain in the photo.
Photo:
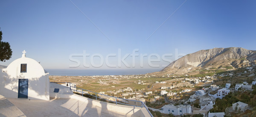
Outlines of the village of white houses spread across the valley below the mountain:
M223 112L210 112L214 108L215 100L222 99L226 95L239 91L253 91L253 85L256 84L256 77L253 67L245 68L244 72L226 72L223 74L205 76L205 77L188 77L166 75L167 78L157 78L155 75L105 75L105 76L87 76L91 78L97 85L108 86L107 91L98 92L99 97L107 100L114 100L111 97L119 97L128 100L138 100L144 102L148 109L159 111L163 114L193 115L204 114L207 117L223 117ZM244 78L253 77L251 82L239 82L234 84L224 78L233 78L234 76ZM70 77L70 76L69 76ZM81 76L84 77L84 76ZM161 76L163 77L163 76ZM154 79L153 79L154 78ZM71 77L72 79L72 77ZM129 79L129 83L127 82ZM221 81L224 80L224 81ZM126 81L127 80L127 81ZM220 84L220 82L222 82ZM225 83L227 82L227 83ZM228 83L229 82L229 83ZM87 84L90 84L87 82ZM92 83L95 84L95 83ZM120 88L119 84L127 84L127 87ZM75 84L76 85L76 84ZM138 88L141 85L141 88ZM122 87L122 86L121 86ZM136 88L137 87L137 88ZM81 92L81 89L77 89ZM83 92L85 94L90 92ZM122 100L118 100L122 101ZM130 103L131 105L140 105ZM252 109L247 103L235 102L229 107L229 113L244 112L247 109ZM227 113L226 113L227 115Z

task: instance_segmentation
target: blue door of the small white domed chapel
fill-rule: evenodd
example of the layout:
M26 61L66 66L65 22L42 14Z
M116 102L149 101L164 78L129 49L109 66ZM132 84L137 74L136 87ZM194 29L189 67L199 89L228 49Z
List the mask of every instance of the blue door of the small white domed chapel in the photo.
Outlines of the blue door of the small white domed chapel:
M28 98L29 79L19 79L18 98Z

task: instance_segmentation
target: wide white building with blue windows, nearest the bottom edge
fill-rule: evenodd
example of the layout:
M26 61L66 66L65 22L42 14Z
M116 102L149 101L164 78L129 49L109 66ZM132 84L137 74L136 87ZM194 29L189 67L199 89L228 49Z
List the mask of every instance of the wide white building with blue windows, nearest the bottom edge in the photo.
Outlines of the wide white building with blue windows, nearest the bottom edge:
M184 113L192 113L192 109L190 105L180 105L180 106L174 106L174 105L165 105L161 108L163 113L165 114L174 114L174 115L183 115Z

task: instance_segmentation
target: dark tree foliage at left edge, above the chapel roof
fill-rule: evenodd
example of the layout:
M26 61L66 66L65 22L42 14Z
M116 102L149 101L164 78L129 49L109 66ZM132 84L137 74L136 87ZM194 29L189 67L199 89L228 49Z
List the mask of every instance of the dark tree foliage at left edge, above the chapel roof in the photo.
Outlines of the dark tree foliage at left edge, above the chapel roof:
M2 35L2 31L0 31L0 61L6 61L12 57L12 49L9 42L2 42Z

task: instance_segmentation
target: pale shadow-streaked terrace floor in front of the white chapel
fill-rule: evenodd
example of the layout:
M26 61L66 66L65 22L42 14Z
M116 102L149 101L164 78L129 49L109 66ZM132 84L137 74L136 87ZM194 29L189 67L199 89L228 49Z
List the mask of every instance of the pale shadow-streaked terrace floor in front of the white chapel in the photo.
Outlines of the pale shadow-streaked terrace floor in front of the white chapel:
M46 100L27 100L22 98L7 98L26 117L131 117L131 114L108 111L107 104L93 105L92 101L81 101L73 98L51 98ZM123 105L118 105L122 107ZM117 108L119 108L117 107ZM135 107L137 108L137 107ZM134 108L134 109L135 109ZM3 116L5 117L5 116Z

